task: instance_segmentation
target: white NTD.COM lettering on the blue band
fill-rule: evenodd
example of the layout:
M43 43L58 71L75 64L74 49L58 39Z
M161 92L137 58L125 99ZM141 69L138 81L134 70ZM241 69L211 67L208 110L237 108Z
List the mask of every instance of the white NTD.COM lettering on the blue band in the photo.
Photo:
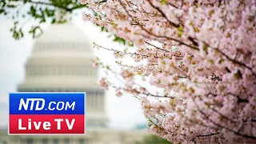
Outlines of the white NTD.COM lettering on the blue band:
M34 103L36 103L34 105ZM41 103L41 106L40 106ZM26 102L24 98L21 98L19 102L18 110L43 110L45 108L45 99L43 98L26 98ZM74 110L75 102L49 102L49 105L44 110Z

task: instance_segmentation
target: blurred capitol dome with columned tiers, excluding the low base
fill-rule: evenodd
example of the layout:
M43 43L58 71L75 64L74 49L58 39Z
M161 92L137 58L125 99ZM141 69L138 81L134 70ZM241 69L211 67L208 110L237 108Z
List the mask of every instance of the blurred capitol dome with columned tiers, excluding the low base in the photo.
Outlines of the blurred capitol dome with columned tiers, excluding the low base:
M105 93L95 83L90 42L74 24L52 25L34 42L19 92L86 92L86 126L105 127Z

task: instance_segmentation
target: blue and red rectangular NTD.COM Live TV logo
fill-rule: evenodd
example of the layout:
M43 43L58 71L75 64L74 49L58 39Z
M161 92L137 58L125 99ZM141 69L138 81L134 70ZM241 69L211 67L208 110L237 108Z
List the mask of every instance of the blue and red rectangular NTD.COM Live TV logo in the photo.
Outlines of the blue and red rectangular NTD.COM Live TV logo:
M85 93L12 93L9 134L85 134Z

